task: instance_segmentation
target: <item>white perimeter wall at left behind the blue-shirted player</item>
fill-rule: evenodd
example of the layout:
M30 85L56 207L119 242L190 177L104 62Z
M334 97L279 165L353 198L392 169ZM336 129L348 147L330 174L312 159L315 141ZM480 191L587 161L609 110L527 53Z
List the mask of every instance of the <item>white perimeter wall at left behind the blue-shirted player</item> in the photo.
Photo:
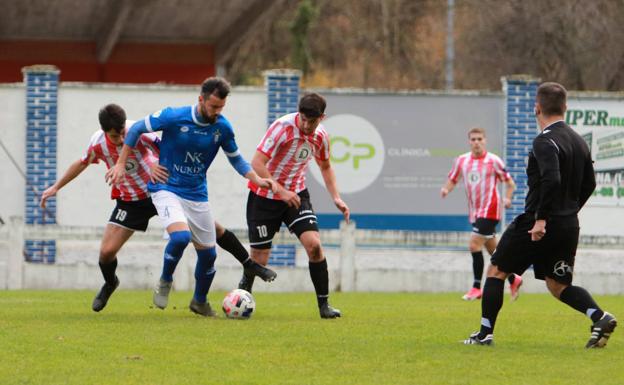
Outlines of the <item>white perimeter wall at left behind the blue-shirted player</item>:
M98 111L108 103L121 105L128 119L138 120L167 106L183 106L197 101L199 87L87 85L61 83L58 105L57 177L80 158L89 138L99 130ZM25 168L25 91L22 85L0 87L0 138L22 169ZM266 130L267 99L264 89L234 88L223 111L236 133L241 153L248 160ZM61 225L102 226L114 202L104 182L103 163L87 168L58 194L57 220ZM0 215L24 215L24 179L0 153ZM225 226L245 228L246 180L220 154L210 167L208 186L215 218ZM152 226L160 226L152 219Z

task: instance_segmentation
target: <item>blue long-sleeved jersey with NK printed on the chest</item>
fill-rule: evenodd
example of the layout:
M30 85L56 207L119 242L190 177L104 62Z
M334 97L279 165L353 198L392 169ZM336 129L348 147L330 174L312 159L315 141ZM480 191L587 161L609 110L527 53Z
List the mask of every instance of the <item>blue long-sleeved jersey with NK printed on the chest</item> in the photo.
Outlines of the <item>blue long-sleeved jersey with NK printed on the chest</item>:
M239 174L251 170L234 140L228 120L219 115L214 123L206 123L197 114L197 105L168 107L137 121L126 135L125 143L134 147L140 134L162 131L160 165L167 168L167 183L149 183L148 191L171 191L191 201L207 201L206 171L219 148Z

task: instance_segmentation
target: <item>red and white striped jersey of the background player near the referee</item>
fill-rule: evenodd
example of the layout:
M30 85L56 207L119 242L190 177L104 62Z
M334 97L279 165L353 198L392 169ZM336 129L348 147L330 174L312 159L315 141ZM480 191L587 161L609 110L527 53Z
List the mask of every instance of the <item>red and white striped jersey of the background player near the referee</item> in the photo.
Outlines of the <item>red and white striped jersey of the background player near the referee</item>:
M479 158L467 152L455 159L448 175L455 183L462 176L468 197L470 223L474 223L477 218L500 220L501 204L496 183L511 179L503 160L490 152Z

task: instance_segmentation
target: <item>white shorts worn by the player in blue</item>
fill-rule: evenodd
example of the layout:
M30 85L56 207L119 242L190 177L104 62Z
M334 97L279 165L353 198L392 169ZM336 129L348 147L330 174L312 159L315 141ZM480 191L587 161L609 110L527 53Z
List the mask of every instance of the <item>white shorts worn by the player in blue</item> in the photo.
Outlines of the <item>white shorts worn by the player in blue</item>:
M153 193L152 202L165 228L173 223L186 223L193 242L206 247L216 244L217 232L209 202L189 201L166 190Z

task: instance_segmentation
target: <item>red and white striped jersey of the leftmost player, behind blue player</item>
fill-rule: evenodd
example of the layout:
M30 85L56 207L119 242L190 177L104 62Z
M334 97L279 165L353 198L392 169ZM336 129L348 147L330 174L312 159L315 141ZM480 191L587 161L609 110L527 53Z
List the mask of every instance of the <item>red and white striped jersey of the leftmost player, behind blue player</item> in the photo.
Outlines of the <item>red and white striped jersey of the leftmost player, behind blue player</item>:
M126 121L126 130L134 122ZM126 175L121 184L113 186L111 199L123 201L137 201L149 197L147 182L149 182L150 165L158 162L158 142L160 138L153 133L143 134L137 145L130 152L126 163ZM99 163L104 161L110 169L117 163L122 146L114 145L103 130L98 130L91 136L89 147L80 158L83 164Z

